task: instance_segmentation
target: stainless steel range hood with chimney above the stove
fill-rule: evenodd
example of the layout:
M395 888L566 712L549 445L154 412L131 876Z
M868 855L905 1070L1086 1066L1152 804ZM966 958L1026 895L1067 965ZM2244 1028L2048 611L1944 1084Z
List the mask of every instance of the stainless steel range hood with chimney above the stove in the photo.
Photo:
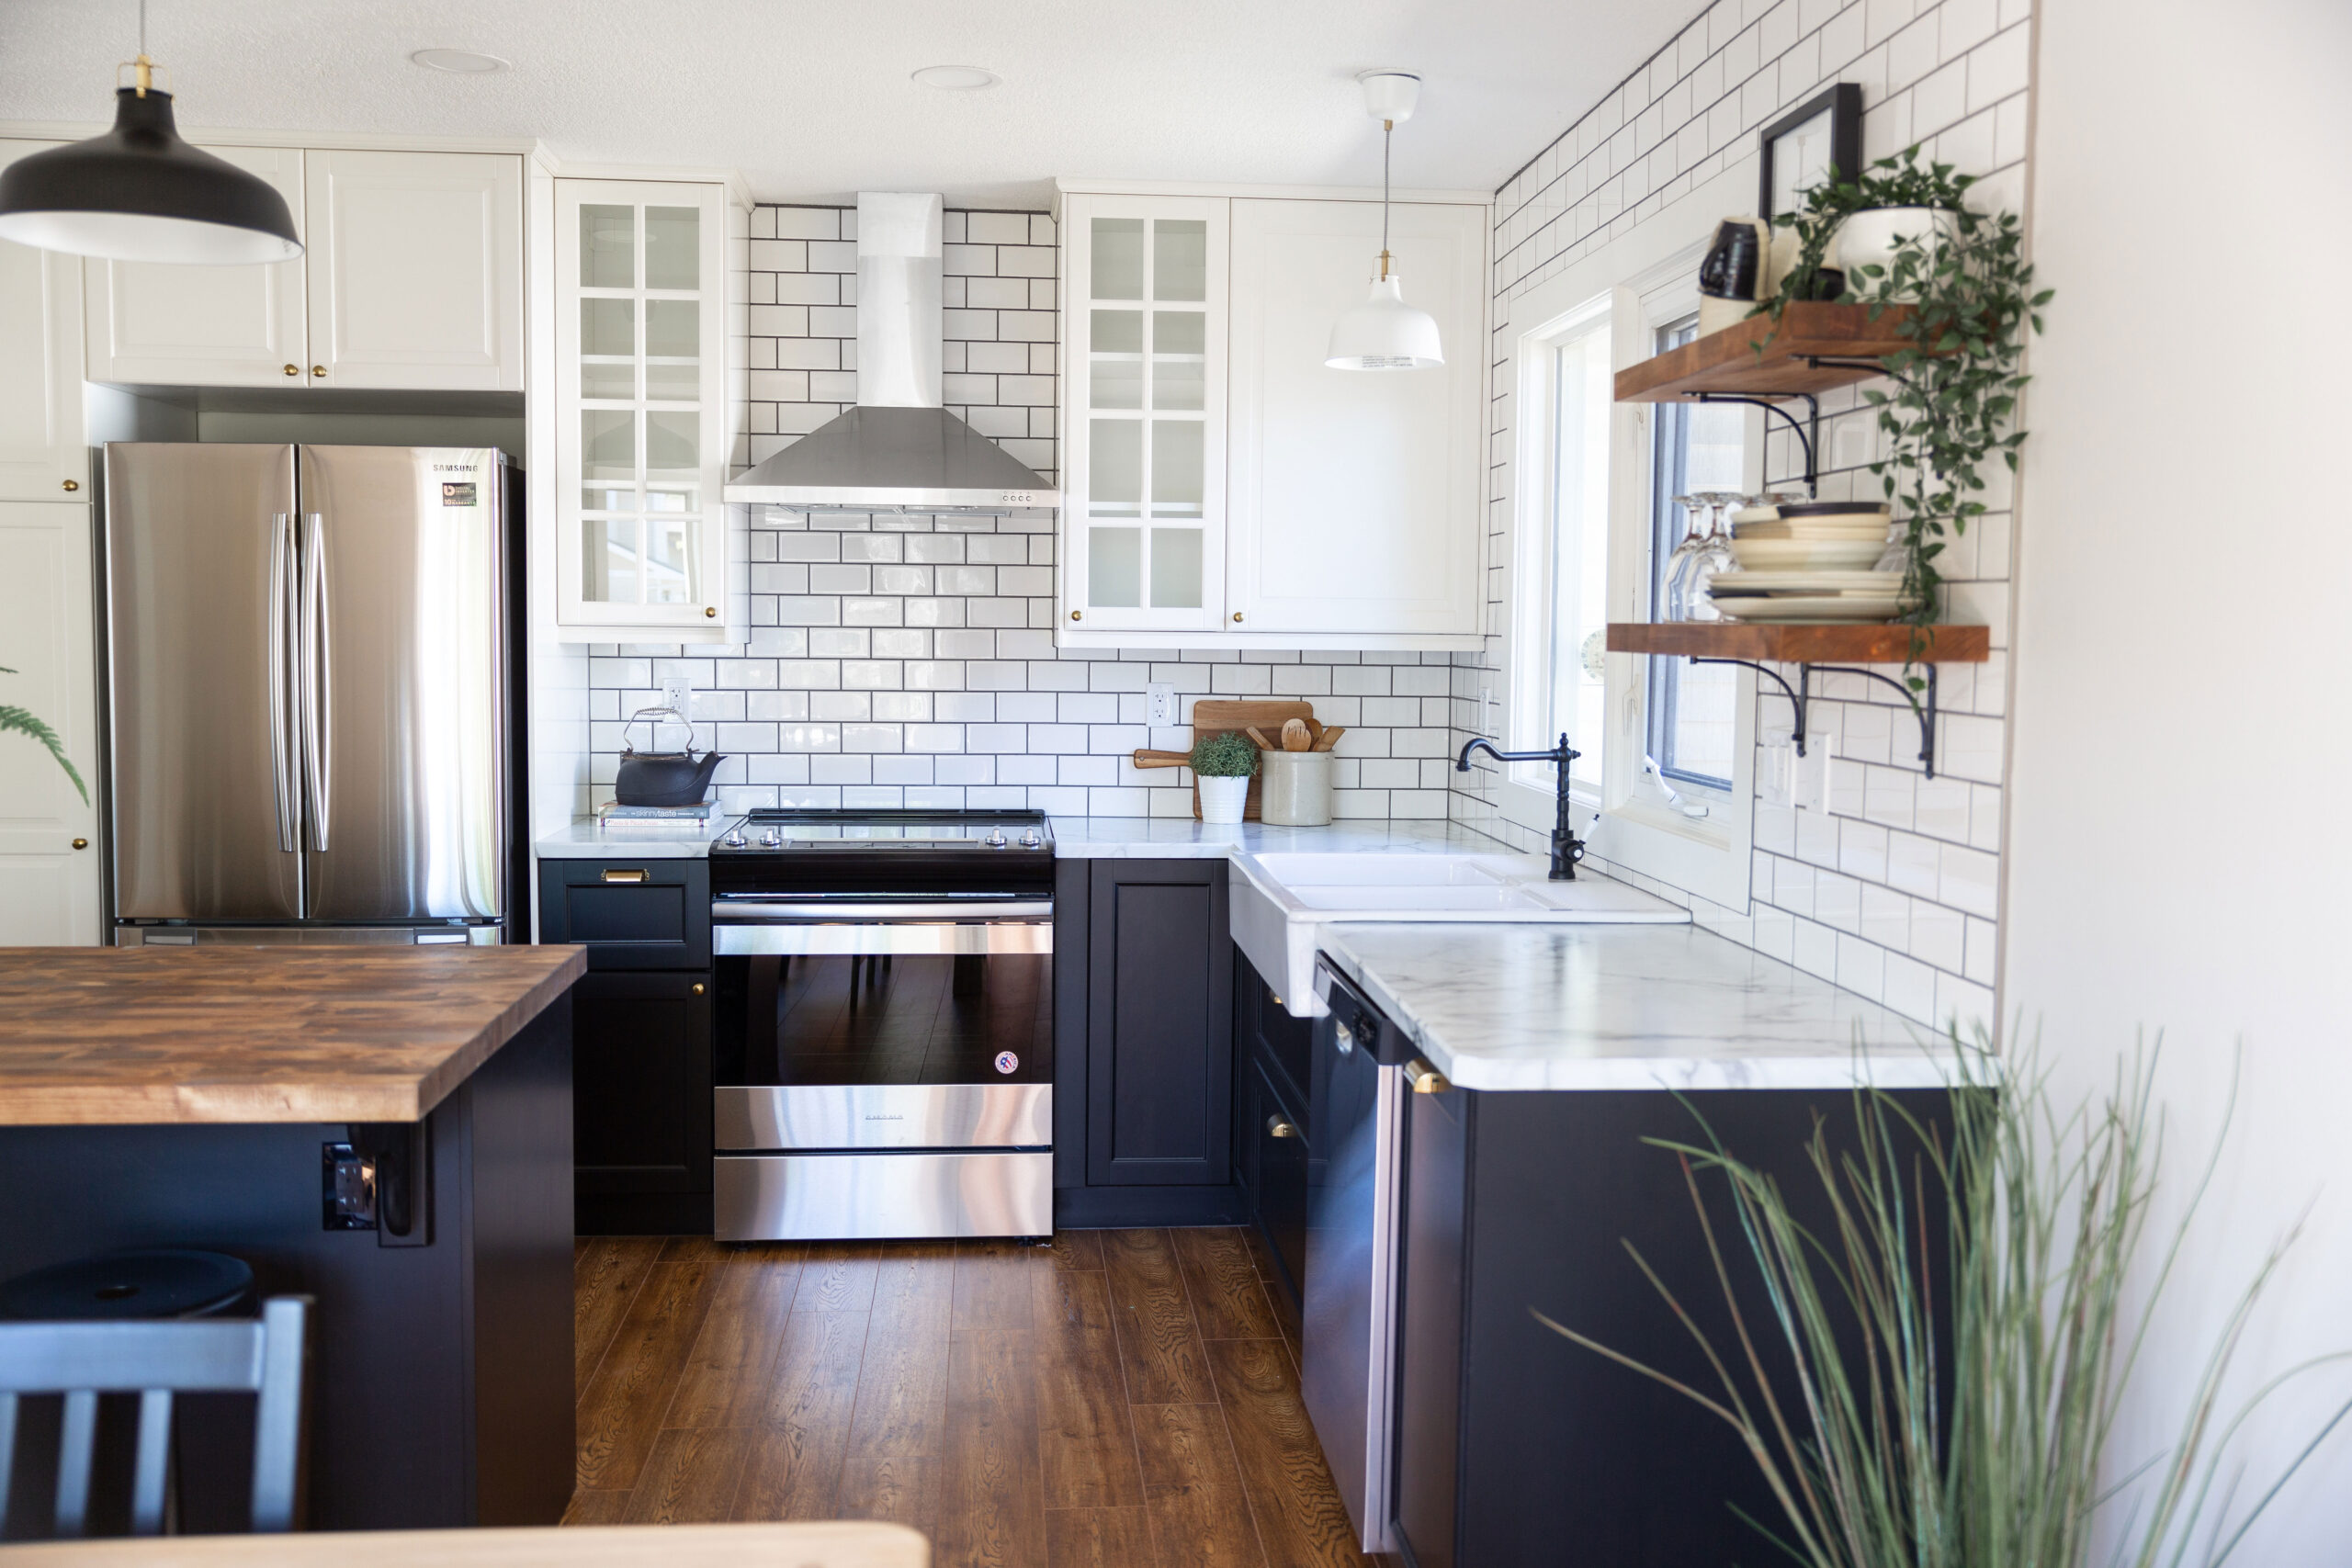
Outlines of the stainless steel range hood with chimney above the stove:
M941 407L941 200L858 195L858 407L724 496L788 508L978 512L1061 491Z

